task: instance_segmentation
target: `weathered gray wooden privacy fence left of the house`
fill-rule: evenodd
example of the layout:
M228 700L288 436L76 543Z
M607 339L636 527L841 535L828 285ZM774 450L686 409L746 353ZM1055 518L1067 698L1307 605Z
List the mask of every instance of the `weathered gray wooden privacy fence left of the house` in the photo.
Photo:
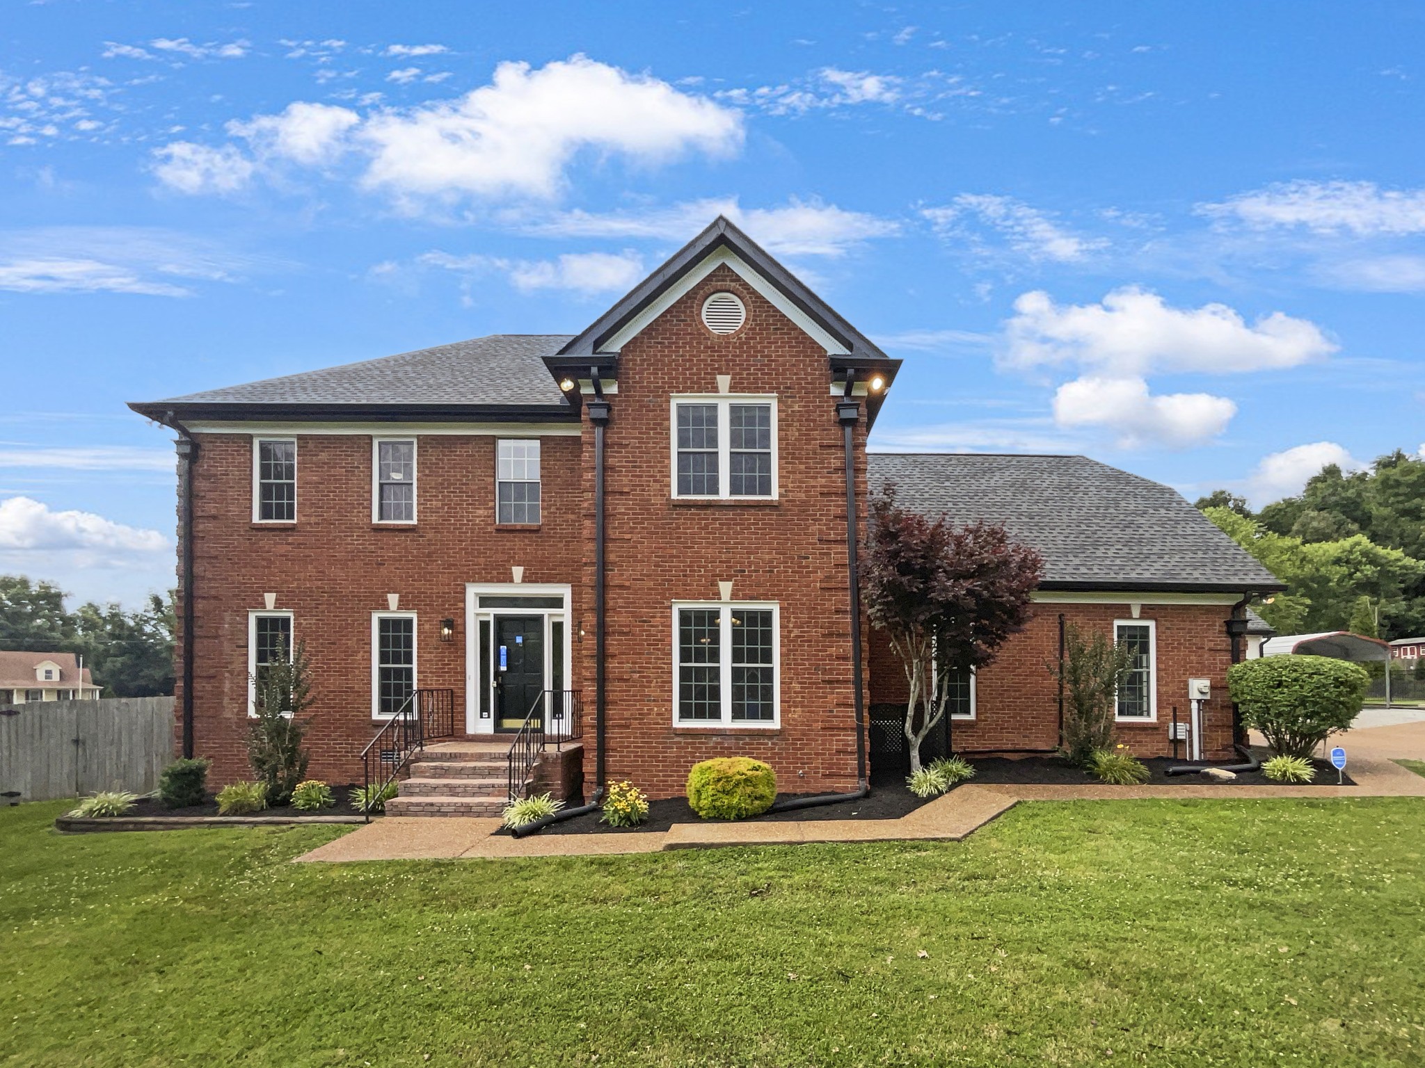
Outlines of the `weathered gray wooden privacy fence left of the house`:
M148 793L174 759L172 698L34 701L0 708L0 792L48 800Z

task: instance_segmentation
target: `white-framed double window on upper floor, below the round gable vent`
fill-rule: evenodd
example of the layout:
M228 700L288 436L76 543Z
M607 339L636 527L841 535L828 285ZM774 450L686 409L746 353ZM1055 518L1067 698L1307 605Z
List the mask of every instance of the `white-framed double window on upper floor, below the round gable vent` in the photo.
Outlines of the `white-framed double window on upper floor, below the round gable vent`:
M777 497L775 396L675 394L670 420L674 497Z

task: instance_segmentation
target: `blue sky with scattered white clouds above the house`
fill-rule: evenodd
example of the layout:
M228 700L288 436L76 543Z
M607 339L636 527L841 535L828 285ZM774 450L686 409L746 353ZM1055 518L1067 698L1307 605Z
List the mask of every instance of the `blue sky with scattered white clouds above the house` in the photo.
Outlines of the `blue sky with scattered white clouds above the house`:
M879 449L1265 503L1425 441L1406 3L6 4L0 570L172 574L151 400L576 332L724 211Z

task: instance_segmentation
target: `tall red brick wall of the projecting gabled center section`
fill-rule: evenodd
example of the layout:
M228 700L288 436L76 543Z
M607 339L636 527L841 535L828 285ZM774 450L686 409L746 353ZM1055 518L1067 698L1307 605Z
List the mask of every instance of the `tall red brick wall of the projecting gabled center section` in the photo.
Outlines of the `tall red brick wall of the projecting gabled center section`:
M735 335L712 335L698 318L704 298L721 289L747 306L747 325ZM775 503L671 500L670 394L717 393L718 375L731 375L734 394L777 394ZM650 796L668 797L683 793L697 760L754 756L772 765L785 792L855 786L845 467L828 382L826 353L725 266L624 347L606 439L611 780L633 779ZM864 420L859 433L864 501ZM586 420L589 591L593 453ZM734 582L734 601L781 607L779 729L674 725L671 602L717 601L720 580ZM591 592L586 600L593 604ZM589 629L583 652L591 706Z

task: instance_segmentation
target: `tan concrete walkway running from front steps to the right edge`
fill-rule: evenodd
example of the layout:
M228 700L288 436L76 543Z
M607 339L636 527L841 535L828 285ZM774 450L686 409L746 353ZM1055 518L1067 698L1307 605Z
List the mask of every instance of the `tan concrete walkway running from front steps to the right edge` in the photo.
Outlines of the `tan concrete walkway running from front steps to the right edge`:
M1412 723L1425 745L1425 723ZM1405 728L1372 728L1352 735ZM1409 739L1394 736L1352 742L1349 770L1355 786L1049 786L969 783L895 820L788 820L747 823L675 823L665 832L607 834L496 834L500 822L472 817L385 816L298 860L415 860L455 857L553 857L611 853L658 853L708 846L772 846L808 842L959 842L1022 800L1250 799L1250 797L1425 797L1425 778L1389 759L1368 756L1368 746L1394 749ZM1414 742L1411 742L1414 743ZM1411 753L1392 753L1409 756Z

